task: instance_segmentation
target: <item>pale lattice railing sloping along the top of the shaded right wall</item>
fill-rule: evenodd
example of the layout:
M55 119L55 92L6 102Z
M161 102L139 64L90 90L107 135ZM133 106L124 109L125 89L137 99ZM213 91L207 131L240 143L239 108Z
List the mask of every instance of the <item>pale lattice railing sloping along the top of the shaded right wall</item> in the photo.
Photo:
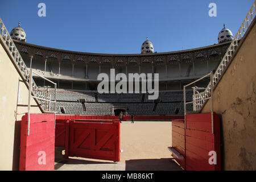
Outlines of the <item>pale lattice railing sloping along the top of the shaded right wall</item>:
M254 1L253 6L251 6L249 13L247 13L236 36L234 37L233 41L230 43L230 46L229 46L228 50L226 51L224 57L222 58L220 65L218 65L216 72L213 74L213 83L212 84L209 83L207 88L205 88L204 92L193 94L193 104L195 104L195 105L193 105L194 111L201 110L201 107L203 106L203 104L205 102L205 98L208 98L210 96L211 86L213 88L214 85L217 84L217 82L218 82L220 76L222 75L222 73L224 72L226 66L230 63L232 55L234 54L234 51L238 47L238 41L245 34L245 32L247 30L246 28L248 28L250 26L251 21L254 19L255 5L256 5L256 1Z

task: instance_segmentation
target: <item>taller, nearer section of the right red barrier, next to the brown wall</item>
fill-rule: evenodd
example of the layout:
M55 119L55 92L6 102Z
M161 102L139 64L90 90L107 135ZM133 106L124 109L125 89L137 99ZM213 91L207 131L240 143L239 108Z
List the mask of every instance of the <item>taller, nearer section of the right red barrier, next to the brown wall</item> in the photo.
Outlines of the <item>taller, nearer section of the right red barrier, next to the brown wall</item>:
M187 170L220 170L220 117L213 113L214 134L212 134L211 113L187 114L186 167ZM210 151L216 152L217 164L209 164Z

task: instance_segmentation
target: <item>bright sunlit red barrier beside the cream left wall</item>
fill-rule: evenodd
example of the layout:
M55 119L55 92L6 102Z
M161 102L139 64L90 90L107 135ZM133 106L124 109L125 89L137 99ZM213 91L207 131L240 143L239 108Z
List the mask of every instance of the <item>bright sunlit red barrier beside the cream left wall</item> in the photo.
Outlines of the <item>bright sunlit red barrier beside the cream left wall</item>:
M22 117L20 131L20 171L54 170L55 129L54 114L30 114Z

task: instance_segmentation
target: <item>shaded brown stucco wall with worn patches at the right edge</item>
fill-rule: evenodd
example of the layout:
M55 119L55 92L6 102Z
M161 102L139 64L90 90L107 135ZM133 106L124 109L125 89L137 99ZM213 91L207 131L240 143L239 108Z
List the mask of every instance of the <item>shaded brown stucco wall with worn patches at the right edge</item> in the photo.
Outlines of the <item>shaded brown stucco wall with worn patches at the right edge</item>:
M256 170L256 27L213 93L213 107L222 117L225 170ZM210 111L207 102L203 113Z

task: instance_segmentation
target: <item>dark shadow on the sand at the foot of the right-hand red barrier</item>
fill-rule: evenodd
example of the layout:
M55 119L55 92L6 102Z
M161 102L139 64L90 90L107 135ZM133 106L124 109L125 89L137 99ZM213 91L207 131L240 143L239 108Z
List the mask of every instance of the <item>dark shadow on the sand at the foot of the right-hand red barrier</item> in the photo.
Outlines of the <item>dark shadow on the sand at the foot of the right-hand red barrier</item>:
M126 171L182 171L171 158L126 160Z

